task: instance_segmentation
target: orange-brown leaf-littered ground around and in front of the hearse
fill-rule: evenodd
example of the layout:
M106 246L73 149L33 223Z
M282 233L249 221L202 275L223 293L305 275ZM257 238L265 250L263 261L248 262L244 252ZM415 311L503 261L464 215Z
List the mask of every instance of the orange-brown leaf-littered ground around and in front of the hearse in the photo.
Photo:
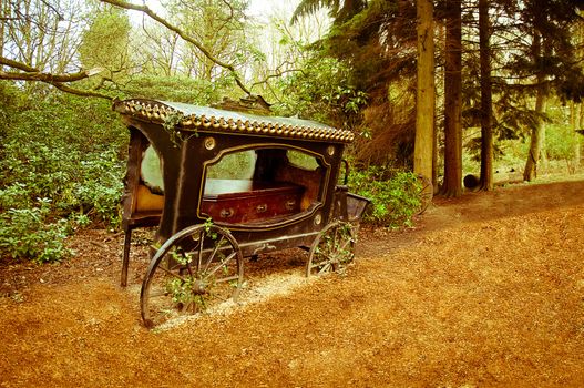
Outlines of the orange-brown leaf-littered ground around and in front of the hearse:
M438 201L361 234L347 276L246 264L244 305L148 331L121 236L59 266L0 267L1 387L584 386L584 182ZM144 246L134 251L144 251Z

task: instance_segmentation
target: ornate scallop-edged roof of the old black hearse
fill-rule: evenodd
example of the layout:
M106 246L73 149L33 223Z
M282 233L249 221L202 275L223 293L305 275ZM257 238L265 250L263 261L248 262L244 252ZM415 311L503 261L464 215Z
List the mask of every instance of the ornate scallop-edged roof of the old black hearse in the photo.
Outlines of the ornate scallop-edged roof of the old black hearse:
M310 120L263 116L180 102L132 99L115 101L113 110L134 119L175 124L183 131L222 132L321 142L350 143L355 135Z

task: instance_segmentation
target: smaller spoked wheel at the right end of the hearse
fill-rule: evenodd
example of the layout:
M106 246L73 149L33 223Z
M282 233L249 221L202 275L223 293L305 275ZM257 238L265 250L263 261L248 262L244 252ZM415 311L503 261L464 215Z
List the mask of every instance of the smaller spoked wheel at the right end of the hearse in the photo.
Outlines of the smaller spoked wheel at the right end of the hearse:
M351 224L336 221L316 237L306 264L306 276L342 273L355 257L355 237Z

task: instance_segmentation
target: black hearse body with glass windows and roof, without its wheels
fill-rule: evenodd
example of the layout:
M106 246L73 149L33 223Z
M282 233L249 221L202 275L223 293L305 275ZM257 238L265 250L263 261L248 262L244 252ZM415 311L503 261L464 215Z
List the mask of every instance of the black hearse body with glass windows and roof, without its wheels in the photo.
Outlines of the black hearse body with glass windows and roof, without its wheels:
M352 140L349 131L151 100L119 101L114 110L131 131L126 233L158 225L157 239L164 242L212 218L229 229L243 255L249 256L308 247L339 212L338 196L345 194L339 194L337 182L345 145ZM164 196L155 198L160 208L140 205L141 161L148 145L163 172ZM216 176L228 156L250 159L253 171L244 178ZM308 159L313 166L298 166L290 162L293 156Z

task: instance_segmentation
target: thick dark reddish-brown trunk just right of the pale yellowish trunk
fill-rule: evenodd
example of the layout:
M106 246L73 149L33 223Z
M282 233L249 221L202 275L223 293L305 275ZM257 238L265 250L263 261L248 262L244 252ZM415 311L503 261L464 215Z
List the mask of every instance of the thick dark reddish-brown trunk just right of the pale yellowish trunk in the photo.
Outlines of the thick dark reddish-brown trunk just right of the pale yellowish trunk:
M462 44L461 0L447 0L444 73L444 185L445 196L462 195Z

